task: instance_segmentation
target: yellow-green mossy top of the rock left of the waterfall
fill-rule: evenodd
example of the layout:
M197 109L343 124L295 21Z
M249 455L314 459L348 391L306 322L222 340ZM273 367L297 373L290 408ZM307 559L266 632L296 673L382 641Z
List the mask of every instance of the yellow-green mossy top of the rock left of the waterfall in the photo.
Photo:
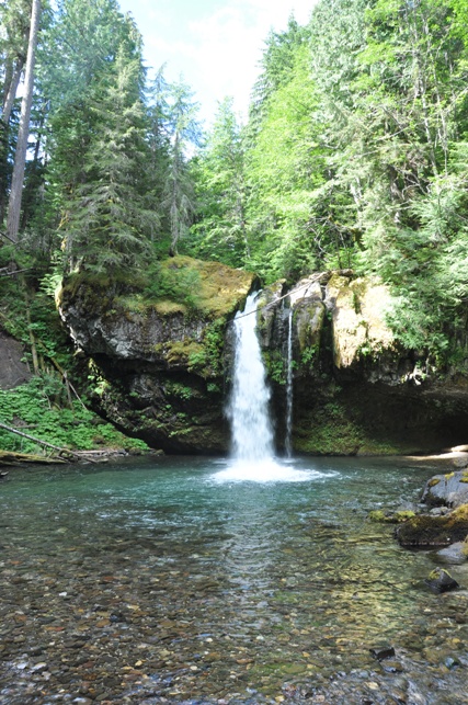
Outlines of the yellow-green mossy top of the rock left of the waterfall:
M185 255L151 262L145 271L119 275L117 280L90 277L87 272L72 274L64 285L61 296L73 297L81 284L95 291L96 304L106 296L122 308L145 314L153 308L162 316L174 312L202 312L219 318L236 310L252 285L253 274L235 270L220 262L204 262ZM99 291L98 291L99 289Z

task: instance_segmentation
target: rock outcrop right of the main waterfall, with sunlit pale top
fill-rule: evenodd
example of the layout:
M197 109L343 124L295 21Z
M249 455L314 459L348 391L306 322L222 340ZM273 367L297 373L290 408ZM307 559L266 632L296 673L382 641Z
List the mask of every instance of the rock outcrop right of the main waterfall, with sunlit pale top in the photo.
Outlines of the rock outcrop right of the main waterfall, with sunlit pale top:
M392 299L375 277L316 273L262 293L264 359L278 439L286 328L293 311L294 447L312 454L431 452L465 442L468 393L402 349L386 323ZM283 372L282 372L283 369Z

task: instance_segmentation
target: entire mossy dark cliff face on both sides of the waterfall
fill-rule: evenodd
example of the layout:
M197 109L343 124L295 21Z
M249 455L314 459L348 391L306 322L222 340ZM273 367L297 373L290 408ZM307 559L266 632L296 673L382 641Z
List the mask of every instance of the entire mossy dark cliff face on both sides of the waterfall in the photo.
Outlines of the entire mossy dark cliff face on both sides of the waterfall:
M93 371L94 403L103 414L167 452L224 453L230 321L254 277L189 258L167 266L196 273L191 306L76 277L65 282L59 310ZM378 281L347 271L312 274L289 291L279 282L261 293L258 331L279 450L289 325L296 452L409 453L466 442L468 384L441 377L422 354L398 346L385 323L390 305Z

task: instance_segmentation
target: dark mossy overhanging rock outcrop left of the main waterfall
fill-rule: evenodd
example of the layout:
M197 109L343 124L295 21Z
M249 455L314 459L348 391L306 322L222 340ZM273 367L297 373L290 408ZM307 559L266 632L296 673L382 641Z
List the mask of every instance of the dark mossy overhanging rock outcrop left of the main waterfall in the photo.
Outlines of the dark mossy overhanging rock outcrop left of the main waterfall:
M60 316L94 375L94 405L111 421L152 447L219 453L229 443L228 325L253 275L183 257L164 266L190 281L179 302L76 275L58 295Z

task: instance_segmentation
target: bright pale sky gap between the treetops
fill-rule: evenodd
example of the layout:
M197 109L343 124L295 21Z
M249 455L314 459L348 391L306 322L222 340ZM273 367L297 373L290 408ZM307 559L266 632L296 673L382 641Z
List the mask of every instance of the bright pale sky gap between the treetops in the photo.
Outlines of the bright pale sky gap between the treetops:
M209 124L218 101L235 100L247 116L262 48L271 29L283 31L294 13L299 24L310 18L315 0L119 0L132 12L145 43L145 60L164 76L182 76Z

